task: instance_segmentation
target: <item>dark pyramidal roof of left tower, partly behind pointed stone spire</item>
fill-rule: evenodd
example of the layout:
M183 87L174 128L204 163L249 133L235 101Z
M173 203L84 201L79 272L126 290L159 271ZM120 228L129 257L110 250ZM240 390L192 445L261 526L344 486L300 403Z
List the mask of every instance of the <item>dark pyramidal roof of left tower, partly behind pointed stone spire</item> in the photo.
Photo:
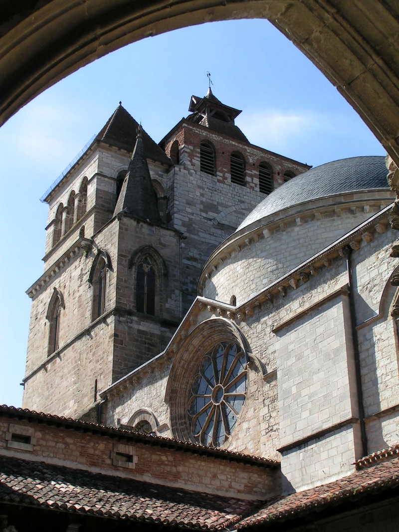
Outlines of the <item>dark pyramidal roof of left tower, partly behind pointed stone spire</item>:
M126 149L132 152L136 144L138 123L136 120L119 105L107 120L105 126L99 132L95 140L101 140L111 146ZM146 156L154 161L171 165L169 157L154 142L154 140L143 129L143 142Z

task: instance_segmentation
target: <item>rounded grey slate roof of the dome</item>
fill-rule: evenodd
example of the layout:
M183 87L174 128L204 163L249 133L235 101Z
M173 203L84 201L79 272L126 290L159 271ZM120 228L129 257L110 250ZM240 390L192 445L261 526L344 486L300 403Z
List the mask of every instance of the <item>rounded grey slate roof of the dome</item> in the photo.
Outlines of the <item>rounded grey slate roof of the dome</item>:
M237 231L287 207L317 198L360 190L389 188L384 156L350 157L307 170L265 197Z

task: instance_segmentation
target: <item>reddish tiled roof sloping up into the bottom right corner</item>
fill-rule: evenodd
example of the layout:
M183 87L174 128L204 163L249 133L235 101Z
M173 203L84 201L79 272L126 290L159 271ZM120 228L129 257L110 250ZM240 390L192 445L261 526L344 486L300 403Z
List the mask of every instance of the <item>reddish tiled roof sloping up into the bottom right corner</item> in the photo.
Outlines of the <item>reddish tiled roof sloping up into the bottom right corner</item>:
M347 477L303 492L293 493L267 505L243 519L237 529L274 525L285 520L300 518L313 511L320 512L331 506L359 501L362 497L376 495L388 488L399 487L399 458L356 471ZM338 510L337 510L338 511Z

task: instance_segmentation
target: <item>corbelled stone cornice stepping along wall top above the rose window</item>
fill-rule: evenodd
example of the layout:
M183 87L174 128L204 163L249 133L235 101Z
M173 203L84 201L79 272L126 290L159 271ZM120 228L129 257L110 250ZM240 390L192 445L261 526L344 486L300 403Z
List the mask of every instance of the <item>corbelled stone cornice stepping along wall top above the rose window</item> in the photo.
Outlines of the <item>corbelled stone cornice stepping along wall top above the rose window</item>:
M215 315L226 317L230 320L237 320L238 322L245 321L248 317L253 315L256 307L260 307L263 304L273 304L273 302L278 301L278 298L285 297L288 290L295 290L298 285L304 284L309 281L311 277L316 276L319 270L329 267L331 261L343 257L342 250L345 246L350 245L353 251L358 251L361 242L368 244L371 242L375 232L382 234L387 228L389 228L388 214L391 207L392 205L388 205L382 211L363 222L360 226L336 240L336 242L322 250L317 255L311 257L311 259L298 265L298 267L288 272L285 276L272 282L271 285L237 307L198 296L183 318L180 326L172 336L165 350L139 368L131 371L128 375L122 377L108 388L102 390L99 395L101 397L108 396L109 398L116 397L127 389L131 389L135 383L138 380L143 379L146 374L153 373L165 361L172 359L174 354L179 350L182 342L184 342L184 339L197 325L197 316L200 312L207 311L210 314L209 317Z

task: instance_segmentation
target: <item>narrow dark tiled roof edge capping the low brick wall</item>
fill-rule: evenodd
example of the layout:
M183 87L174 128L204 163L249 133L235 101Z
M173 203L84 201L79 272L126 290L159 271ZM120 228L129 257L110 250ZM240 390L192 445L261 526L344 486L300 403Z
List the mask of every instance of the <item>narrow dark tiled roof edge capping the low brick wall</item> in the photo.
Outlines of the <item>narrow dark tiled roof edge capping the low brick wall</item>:
M143 443L147 445L155 445L159 447L167 447L173 449L181 449L189 451L194 454L201 454L207 456L215 456L222 460L235 461L240 463L247 463L258 465L266 468L280 467L280 463L276 460L269 460L261 456L251 456L248 454L237 453L235 451L228 451L227 449L219 449L215 447L205 447L192 442L182 442L177 439L166 438L164 436L155 436L152 434L142 434L131 430L107 427L105 425L97 425L88 421L80 421L73 418L65 418L63 416L54 414L45 414L44 412L35 412L35 410L28 410L16 408L15 406L0 405L0 415L7 417L26 419L28 421L37 421L39 423L46 423L46 425L54 425L57 427L74 428L75 430L89 431L93 434L103 434L108 436L116 436L118 438L128 438L135 440L136 443Z

